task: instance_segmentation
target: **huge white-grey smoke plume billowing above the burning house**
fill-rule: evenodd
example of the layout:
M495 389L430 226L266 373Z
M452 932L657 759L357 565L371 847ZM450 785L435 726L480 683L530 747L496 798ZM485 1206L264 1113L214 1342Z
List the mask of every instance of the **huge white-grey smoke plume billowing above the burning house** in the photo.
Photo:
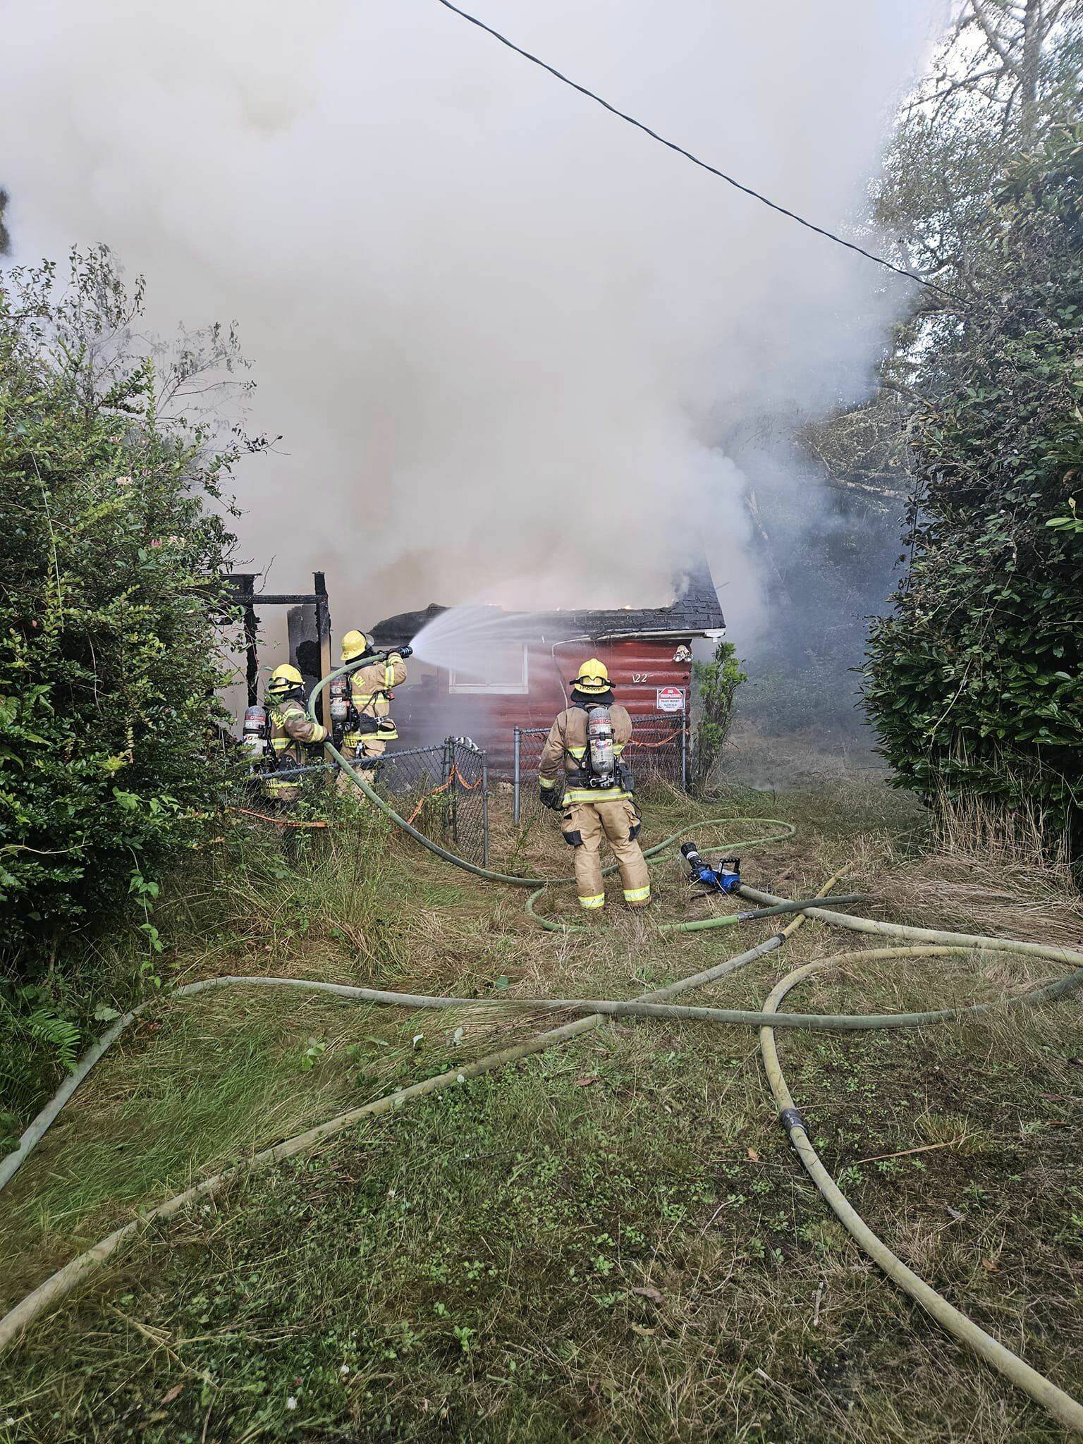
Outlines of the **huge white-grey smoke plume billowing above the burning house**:
M940 0L477 0L664 134L859 219ZM429 601L657 604L706 546L752 618L745 416L869 384L907 283L435 0L35 0L0 55L14 260L105 241L150 322L240 322L243 552L336 630ZM800 482L804 484L803 481Z

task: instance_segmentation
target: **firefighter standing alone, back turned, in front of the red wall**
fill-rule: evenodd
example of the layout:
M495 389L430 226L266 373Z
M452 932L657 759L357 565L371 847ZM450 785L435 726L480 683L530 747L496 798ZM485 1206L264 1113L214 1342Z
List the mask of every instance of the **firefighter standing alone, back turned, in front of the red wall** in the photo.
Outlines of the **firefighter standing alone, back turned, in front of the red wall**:
M596 721L592 709L606 709ZM611 729L612 758L602 751ZM588 732L589 726L589 732ZM602 747L592 747L592 736ZM542 803L556 810L563 806L565 842L575 848L575 881L579 905L605 905L601 846L605 835L624 885L628 907L645 907L651 887L640 843L640 813L631 790L631 773L621 762L621 752L631 736L631 718L614 702L609 673L596 657L579 669L572 683L572 706L553 722L539 764ZM563 800L557 775L565 770Z

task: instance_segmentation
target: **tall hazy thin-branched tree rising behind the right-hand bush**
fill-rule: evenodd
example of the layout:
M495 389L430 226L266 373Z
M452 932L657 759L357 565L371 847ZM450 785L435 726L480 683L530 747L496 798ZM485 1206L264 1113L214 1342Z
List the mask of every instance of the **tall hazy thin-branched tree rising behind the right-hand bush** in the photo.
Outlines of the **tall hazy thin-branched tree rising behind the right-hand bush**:
M875 396L807 426L806 451L839 491L884 517L913 491L907 427L936 377L928 334L989 280L989 196L1019 152L1071 124L1083 69L1083 0L963 0L928 74L902 107L875 188L894 258L939 282L897 328Z

